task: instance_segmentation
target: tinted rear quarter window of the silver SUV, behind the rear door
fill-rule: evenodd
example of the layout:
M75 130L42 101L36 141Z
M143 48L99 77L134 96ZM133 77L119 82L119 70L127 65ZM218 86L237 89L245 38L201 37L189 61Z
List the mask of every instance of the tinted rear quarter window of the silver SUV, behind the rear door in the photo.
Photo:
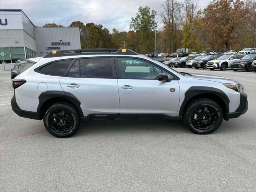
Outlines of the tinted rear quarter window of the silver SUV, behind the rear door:
M47 64L39 69L39 72L46 75L63 76L72 60L61 60Z

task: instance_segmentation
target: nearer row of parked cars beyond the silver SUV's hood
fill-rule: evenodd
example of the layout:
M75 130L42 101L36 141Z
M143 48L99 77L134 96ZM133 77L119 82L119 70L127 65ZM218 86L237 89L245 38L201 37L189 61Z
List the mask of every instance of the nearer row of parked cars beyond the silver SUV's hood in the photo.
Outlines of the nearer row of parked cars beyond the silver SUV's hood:
M157 60L157 58L155 58ZM200 56L176 57L162 63L170 67L203 68L203 69L220 69L226 70L231 68L234 71L246 70L256 71L256 54L214 54ZM160 61L160 60L158 60Z

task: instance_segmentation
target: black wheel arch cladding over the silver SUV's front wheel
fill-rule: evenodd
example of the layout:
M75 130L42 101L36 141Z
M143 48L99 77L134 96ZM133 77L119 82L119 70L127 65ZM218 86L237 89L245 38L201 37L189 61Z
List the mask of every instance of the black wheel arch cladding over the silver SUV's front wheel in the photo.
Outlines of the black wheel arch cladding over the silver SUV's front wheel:
M179 111L178 116L182 116L186 104L188 104L188 102L190 102L190 100L193 97L198 96L200 94L212 94L212 95L216 95L216 96L220 97L225 104L226 113L229 112L228 105L229 105L230 100L229 100L228 96L222 90L213 88L213 87L192 86L184 94L184 100L180 106L180 111ZM225 114L224 114L224 116L225 116Z

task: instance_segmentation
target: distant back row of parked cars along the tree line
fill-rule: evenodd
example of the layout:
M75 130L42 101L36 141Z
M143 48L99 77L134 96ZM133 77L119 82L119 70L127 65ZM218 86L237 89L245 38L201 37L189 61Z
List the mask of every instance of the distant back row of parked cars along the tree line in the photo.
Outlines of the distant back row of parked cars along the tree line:
M235 50L226 50L226 51L220 51L216 52L214 50L210 51L201 51L201 52L191 52L189 55L185 52L174 52L174 53L160 53L157 56L164 56L164 57L184 57L184 56L200 56L200 55L217 55L217 54L256 54L256 48L244 48L240 50L239 52L236 52ZM149 54L150 57L154 57L153 54ZM147 56L147 55L146 55ZM156 56L156 55L155 55Z

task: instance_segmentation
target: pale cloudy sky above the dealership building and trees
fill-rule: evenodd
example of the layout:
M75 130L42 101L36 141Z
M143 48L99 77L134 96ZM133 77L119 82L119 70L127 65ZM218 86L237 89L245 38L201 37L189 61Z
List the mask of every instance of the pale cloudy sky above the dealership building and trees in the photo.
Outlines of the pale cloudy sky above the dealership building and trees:
M182 0L181 0L182 1ZM162 0L0 0L1 9L22 9L34 25L55 22L69 26L80 20L84 24L93 22L110 29L128 31L131 17L139 6L156 10L158 28L161 28L160 4ZM204 9L210 0L199 0Z

